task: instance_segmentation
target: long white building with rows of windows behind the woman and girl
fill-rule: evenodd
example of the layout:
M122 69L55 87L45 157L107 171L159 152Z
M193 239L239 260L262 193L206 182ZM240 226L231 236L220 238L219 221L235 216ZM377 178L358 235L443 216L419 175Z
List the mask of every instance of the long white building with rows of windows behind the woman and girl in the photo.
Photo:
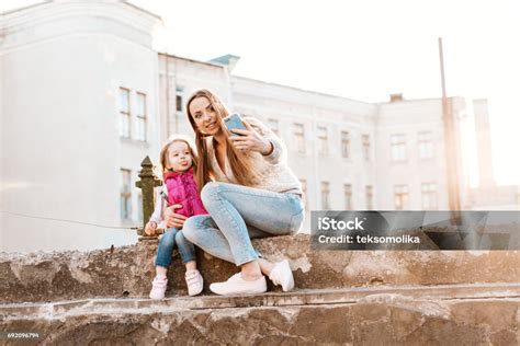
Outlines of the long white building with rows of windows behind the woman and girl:
M442 100L373 104L236 77L238 57L204 62L155 51L160 25L115 1L45 2L2 15L0 251L134 242L135 231L103 227L142 223L140 161L157 162L171 134L192 134L183 107L201 88L282 137L307 210L449 209ZM475 109L482 125L487 108L479 101ZM450 99L450 114L462 134L473 102ZM466 198L463 140L457 135L449 152L467 209L476 201L475 193Z

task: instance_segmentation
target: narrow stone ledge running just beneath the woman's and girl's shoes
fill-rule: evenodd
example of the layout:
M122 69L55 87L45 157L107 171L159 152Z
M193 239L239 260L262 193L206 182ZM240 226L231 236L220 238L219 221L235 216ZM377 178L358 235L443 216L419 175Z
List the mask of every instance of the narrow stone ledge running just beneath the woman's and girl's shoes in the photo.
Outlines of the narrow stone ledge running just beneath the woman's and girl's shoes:
M378 297L378 298L377 298ZM402 300L520 299L520 284L442 285L436 287L368 287L350 289L309 289L295 292L267 292L238 296L181 296L162 300L142 298L84 299L48 303L0 304L4 320L60 320L91 314L150 314L181 310L236 309L251 307L293 307L349 304L399 297Z

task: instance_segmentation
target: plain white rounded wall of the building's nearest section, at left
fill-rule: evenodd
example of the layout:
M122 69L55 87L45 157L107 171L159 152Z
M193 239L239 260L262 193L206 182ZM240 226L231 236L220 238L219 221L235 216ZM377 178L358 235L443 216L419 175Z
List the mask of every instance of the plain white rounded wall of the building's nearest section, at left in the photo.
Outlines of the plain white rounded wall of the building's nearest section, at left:
M132 169L136 178L140 160L158 150L150 47L157 23L134 7L98 1L44 3L4 16L1 210L126 226L120 169ZM150 141L120 139L120 86L148 95ZM124 231L78 224L71 232L64 222L13 215L1 221L0 251L128 243Z

